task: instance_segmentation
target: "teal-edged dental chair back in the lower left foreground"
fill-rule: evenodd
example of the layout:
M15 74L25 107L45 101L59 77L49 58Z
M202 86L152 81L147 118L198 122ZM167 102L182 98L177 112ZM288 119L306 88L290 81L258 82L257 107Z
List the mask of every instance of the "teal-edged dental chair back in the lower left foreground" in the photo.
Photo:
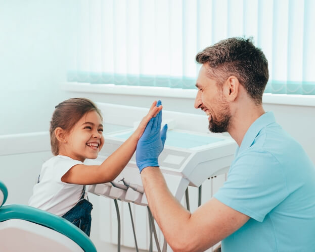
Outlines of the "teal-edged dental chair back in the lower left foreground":
M0 181L0 250L96 252L89 237L62 217L25 205L4 205L6 185Z

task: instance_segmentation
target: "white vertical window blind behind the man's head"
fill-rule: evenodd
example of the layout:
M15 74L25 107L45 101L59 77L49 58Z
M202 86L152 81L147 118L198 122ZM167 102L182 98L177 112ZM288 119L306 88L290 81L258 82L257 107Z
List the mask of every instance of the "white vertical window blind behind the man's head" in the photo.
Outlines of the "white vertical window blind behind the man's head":
M253 37L268 59L265 92L315 95L313 0L81 0L68 81L195 88L195 55Z

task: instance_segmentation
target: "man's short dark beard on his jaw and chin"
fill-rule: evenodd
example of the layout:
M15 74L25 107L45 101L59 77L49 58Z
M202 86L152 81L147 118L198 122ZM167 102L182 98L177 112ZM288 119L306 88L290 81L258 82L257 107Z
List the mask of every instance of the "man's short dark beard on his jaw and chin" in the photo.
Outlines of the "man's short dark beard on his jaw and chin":
M211 120L209 121L209 131L213 133L223 133L229 130L231 120L231 113L229 106L222 107L221 111L214 116L211 114Z

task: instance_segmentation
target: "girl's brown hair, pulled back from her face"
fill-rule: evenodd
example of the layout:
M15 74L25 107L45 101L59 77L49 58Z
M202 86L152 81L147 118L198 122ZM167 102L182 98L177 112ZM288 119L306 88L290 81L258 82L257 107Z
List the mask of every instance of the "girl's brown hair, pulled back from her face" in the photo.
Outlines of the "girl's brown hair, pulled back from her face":
M70 132L75 123L90 111L96 111L103 121L100 109L91 100L86 98L70 98L55 107L50 123L52 153L55 156L59 154L58 140L55 135L56 128L60 127L66 132Z

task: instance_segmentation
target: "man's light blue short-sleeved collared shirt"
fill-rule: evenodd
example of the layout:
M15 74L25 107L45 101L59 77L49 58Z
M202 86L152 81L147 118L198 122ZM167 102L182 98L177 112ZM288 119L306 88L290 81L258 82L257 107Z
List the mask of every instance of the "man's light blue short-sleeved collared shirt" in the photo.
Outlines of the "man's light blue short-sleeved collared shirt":
M223 252L315 251L315 167L272 112L247 130L214 197L250 217Z

